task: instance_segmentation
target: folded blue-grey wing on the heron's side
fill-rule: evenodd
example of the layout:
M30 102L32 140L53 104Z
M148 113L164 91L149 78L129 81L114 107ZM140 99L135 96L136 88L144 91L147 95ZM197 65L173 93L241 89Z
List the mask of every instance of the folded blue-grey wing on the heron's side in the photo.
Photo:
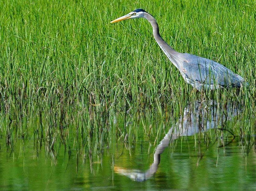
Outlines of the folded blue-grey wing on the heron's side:
M184 74L191 82L240 87L244 79L218 62L184 54Z

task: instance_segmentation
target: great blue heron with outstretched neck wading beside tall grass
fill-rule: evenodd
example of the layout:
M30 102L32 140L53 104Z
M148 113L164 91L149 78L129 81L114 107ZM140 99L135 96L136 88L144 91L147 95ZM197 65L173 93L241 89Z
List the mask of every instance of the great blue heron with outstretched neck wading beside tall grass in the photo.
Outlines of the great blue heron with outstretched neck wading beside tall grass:
M130 18L146 18L148 20L153 27L153 35L159 47L164 51L164 54L169 58L174 66L178 68L184 80L197 90L200 91L202 88L240 88L242 84L245 83L243 77L235 74L218 62L196 55L175 51L160 36L156 19L143 9L136 9L123 17L111 21L110 23Z

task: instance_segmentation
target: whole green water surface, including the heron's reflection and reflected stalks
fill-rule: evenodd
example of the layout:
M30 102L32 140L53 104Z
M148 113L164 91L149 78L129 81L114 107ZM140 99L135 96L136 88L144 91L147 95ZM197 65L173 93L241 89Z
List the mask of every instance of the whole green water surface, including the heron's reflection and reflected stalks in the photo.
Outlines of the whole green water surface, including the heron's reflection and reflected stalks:
M5 124L0 138L0 187L2 190L254 189L255 136L249 131L239 135L239 128L243 131L243 125L250 124L243 121L241 107L234 104L225 110L211 104L207 108L191 107L188 105L179 116L176 114L168 121L154 115L140 118L131 115L125 120L124 114L118 114L109 122L108 132L101 134L103 140L93 135L76 136L75 128L70 125L65 131L65 141L56 136L52 148L33 130L27 132L26 138L13 136L12 144L6 144ZM152 133L147 134L149 123L153 124ZM45 121L46 129L44 124Z

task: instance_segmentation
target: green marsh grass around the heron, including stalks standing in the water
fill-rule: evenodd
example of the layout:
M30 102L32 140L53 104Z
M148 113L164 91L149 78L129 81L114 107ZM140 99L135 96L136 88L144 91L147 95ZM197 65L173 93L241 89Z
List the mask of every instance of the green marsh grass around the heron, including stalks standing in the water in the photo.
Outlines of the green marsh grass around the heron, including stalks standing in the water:
M223 111L239 102L243 114L226 126L241 140L255 134L255 2L15 0L0 6L7 149L33 139L37 155L45 145L54 158L64 146L68 154L76 148L92 160L92 153L110 147L110 134L126 148L141 134L156 145L185 107L212 99ZM250 85L240 91L192 89L161 52L146 20L109 23L139 7L155 16L174 49L218 61Z

